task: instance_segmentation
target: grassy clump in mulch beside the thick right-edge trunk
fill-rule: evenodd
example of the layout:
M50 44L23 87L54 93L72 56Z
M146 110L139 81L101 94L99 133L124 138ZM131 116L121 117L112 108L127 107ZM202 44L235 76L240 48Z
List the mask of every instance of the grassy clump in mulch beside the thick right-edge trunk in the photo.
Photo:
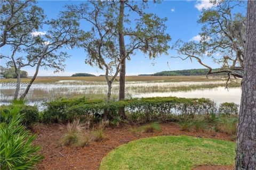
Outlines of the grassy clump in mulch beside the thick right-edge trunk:
M237 117L221 117L217 123L217 130L228 135L236 135L237 122Z

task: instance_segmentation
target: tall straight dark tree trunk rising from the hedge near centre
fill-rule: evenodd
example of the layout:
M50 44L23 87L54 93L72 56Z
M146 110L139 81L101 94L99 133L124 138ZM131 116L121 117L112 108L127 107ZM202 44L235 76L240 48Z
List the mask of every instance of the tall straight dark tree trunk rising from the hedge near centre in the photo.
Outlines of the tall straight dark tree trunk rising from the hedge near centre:
M125 98L125 44L124 44L124 1L120 2L119 18L118 18L118 36L120 50L120 72L119 72L119 100ZM124 108L119 109L119 116L126 118Z

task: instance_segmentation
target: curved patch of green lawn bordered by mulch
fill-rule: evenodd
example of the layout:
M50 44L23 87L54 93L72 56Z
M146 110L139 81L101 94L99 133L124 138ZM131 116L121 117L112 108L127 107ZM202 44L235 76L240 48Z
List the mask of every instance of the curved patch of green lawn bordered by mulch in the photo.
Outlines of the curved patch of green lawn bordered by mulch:
M129 142L102 159L100 169L191 169L234 165L235 143L187 136L151 137Z

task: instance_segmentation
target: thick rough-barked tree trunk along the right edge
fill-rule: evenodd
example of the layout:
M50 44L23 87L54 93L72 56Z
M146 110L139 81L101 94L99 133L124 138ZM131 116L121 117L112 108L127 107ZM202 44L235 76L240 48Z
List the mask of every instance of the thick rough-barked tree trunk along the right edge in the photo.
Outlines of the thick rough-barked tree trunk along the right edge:
M256 1L248 1L247 5L244 76L235 169L256 169Z

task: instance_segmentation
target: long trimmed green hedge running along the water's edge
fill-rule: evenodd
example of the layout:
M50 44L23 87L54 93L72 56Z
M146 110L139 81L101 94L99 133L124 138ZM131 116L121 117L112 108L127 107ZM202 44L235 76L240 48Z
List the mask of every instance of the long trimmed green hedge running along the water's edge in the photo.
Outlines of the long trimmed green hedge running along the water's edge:
M126 115L195 115L217 113L214 101L205 98L153 97L133 98L121 101L87 100L85 98L58 99L44 104L46 110L43 120L46 123L65 123L75 118L99 121L104 112L108 120L118 117L120 108L125 108ZM130 116L131 117L131 116Z

